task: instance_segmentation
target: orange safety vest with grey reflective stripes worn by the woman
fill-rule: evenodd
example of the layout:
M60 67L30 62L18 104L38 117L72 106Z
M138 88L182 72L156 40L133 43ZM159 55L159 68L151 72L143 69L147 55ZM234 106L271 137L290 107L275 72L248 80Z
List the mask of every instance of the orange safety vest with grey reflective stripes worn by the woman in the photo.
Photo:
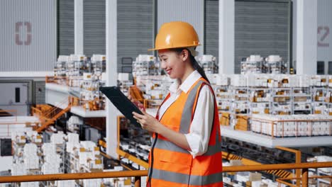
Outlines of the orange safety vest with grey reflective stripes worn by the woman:
M164 115L160 119L158 116L156 118L167 128L182 134L189 133L199 92L203 85L208 85L211 89L205 79L197 80L187 94L182 91L182 94L167 108ZM211 91L213 93L212 89ZM169 97L170 94L165 101ZM154 134L153 146L149 155L147 186L223 186L221 134L216 99L214 99L213 121L209 147L206 153L194 159L186 149L178 147L162 135Z

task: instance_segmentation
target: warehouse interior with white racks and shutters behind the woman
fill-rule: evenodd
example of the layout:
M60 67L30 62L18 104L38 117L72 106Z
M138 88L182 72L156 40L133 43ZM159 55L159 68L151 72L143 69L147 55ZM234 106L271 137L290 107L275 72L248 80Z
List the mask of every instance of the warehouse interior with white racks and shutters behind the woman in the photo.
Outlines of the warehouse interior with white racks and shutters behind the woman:
M201 42L223 186L332 186L331 0L7 0L0 12L0 186L145 186L147 173L65 174L147 172L149 133L99 88L156 115L175 80L148 49L170 21ZM48 174L64 175L21 177Z

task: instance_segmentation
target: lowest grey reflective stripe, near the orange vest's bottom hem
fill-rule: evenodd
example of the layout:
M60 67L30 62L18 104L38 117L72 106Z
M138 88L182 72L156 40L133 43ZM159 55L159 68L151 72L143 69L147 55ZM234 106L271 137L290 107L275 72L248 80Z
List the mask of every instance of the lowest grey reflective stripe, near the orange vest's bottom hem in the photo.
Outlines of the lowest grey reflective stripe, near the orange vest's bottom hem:
M173 183L183 183L189 185L203 186L213 183L221 183L223 181L223 174L222 172L220 172L208 176L195 176L195 175L179 174L172 171L153 169L152 178L160 179L162 181L170 181Z

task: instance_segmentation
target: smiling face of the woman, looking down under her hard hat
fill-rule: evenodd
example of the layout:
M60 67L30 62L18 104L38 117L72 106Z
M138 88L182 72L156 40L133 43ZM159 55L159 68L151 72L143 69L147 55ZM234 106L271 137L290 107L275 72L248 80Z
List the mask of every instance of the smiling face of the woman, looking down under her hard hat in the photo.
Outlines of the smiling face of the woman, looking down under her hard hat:
M162 69L171 79L180 79L185 71L185 62L182 54L171 50L159 50L158 56Z

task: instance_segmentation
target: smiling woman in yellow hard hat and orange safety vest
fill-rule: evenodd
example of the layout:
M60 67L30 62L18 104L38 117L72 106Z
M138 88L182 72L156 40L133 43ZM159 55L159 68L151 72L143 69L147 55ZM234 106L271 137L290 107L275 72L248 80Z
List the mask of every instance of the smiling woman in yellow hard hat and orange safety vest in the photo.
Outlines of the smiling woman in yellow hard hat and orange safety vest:
M165 23L155 39L161 67L170 78L170 94L157 116L133 113L153 133L147 186L223 186L221 136L214 91L194 59L199 45L189 23ZM134 103L138 103L134 101Z

